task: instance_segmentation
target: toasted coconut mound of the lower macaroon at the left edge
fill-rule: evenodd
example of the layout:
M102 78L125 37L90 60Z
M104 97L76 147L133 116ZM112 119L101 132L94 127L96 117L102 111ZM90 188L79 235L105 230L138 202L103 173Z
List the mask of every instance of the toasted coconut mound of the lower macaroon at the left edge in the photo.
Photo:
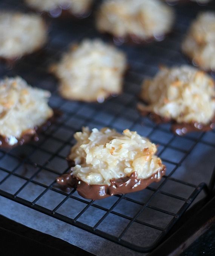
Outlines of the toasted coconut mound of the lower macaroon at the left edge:
M23 144L35 136L36 129L53 116L50 95L20 77L0 81L0 147Z

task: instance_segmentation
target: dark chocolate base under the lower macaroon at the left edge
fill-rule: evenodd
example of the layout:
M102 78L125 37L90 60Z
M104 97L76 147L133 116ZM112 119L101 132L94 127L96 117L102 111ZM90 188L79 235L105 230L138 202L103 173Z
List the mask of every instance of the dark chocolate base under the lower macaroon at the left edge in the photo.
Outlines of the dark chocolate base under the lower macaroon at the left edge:
M0 147L4 148L13 148L18 145L23 145L24 143L28 143L31 140L38 141L38 133L43 132L48 129L49 126L51 126L51 123L54 123L55 120L61 116L61 112L59 110L54 110L54 114L51 118L49 118L44 124L41 126L35 126L33 129L29 129L29 132L23 133L21 135L21 138L17 139L17 143L14 145L9 144L9 139L7 137L4 137L0 135Z

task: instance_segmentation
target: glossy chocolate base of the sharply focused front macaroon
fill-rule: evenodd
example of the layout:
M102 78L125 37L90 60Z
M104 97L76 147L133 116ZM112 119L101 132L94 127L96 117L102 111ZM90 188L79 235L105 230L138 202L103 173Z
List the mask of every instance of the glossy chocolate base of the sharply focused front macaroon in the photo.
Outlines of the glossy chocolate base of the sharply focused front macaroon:
M159 182L165 174L166 168L152 174L149 178L138 179L137 172L132 172L130 177L112 179L111 185L90 185L77 177L73 177L72 172L63 174L57 178L57 183L63 188L76 188L78 194L84 198L98 200L117 194L127 194L140 191L152 182Z

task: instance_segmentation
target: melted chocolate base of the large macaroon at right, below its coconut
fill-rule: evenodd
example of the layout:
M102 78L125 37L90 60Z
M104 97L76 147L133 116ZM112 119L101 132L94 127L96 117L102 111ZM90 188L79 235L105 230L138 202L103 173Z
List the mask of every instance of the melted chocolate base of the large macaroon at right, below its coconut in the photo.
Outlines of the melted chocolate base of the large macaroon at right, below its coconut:
M171 123L171 130L177 135L185 135L188 132L207 132L215 128L215 116L212 118L209 124L201 124L198 122L192 123L177 123L174 120L168 118L162 118L161 116L147 111L141 111L141 115L146 116L148 115L150 119L152 119L156 124L161 123Z

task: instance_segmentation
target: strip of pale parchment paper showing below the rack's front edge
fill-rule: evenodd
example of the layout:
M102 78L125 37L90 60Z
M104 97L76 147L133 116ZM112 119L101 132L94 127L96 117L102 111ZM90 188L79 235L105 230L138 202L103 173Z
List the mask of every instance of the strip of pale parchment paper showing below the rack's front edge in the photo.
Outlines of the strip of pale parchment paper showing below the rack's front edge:
M27 227L63 239L66 242L74 244L95 255L114 255L116 253L118 255L131 256L146 255L129 250L121 245L95 236L94 234L54 219L29 207L20 205L19 203L8 200L2 196L0 196L0 205L4 206L0 208L0 214L3 216L15 220Z

